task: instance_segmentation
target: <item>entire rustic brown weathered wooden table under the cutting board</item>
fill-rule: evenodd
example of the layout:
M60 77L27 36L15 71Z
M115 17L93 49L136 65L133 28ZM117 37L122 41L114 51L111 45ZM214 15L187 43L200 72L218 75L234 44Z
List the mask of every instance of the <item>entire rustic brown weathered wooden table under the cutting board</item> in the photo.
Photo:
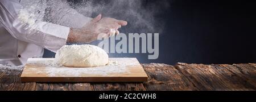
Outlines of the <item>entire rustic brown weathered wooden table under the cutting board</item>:
M22 70L0 68L0 90L256 90L256 64L142 64L144 83L22 83Z

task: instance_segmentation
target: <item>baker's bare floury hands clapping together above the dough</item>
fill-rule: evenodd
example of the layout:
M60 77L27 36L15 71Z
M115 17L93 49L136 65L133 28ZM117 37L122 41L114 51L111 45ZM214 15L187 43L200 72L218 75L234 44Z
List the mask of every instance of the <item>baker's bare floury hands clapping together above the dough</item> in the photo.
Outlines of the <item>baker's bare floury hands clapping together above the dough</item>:
M67 42L92 42L100 35L110 37L119 34L118 29L127 25L127 21L104 17L101 14L85 24L82 28L71 28Z

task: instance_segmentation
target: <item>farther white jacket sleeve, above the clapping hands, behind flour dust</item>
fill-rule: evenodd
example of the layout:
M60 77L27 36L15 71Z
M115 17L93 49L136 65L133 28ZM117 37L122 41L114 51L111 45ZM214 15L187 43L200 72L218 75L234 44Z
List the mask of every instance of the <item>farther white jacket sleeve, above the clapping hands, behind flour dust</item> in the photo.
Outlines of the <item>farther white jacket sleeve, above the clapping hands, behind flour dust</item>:
M92 18L80 14L77 10L69 6L69 3L66 0L48 1L47 5L50 7L48 18L51 23L72 28L81 28L92 20Z

